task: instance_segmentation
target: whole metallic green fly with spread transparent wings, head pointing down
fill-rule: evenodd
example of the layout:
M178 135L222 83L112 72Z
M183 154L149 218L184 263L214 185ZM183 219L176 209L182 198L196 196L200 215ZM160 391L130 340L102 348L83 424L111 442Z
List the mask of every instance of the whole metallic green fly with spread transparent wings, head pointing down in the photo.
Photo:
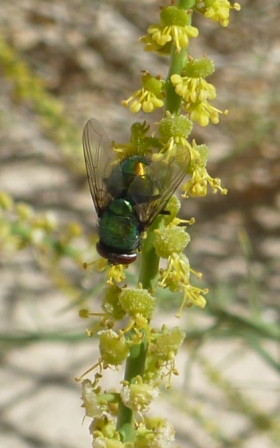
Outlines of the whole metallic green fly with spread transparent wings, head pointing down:
M137 151L118 159L101 124L92 118L83 132L83 149L90 193L98 216L99 255L111 264L137 258L142 235L185 176L190 153L144 156Z

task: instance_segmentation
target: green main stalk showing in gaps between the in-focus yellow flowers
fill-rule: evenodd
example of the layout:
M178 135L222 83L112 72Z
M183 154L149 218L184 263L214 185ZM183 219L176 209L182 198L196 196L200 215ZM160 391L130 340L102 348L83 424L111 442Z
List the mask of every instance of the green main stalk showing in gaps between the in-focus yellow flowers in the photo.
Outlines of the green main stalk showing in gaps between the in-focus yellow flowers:
M190 4L193 1L190 0L178 0L177 5L179 8L190 8ZM181 97L176 94L175 89L171 83L171 76L174 74L180 75L183 70L184 62L186 60L187 47L181 48L179 53L176 53L176 48L171 50L170 67L166 79L166 98L165 98L165 111L169 111L171 114L178 115L181 110ZM164 225L163 218L159 216L153 223L153 225L147 231L147 236L142 244L141 253L141 265L138 277L138 282L142 287L148 289L151 292L156 290L159 257L154 249L154 230ZM146 353L147 353L147 338L143 333L143 340L139 345L135 345L130 350L130 355L126 361L125 368L125 380L131 383L136 376L142 376L145 368ZM119 403L117 429L122 436L123 442L134 441L134 413L131 409L127 408L121 401Z

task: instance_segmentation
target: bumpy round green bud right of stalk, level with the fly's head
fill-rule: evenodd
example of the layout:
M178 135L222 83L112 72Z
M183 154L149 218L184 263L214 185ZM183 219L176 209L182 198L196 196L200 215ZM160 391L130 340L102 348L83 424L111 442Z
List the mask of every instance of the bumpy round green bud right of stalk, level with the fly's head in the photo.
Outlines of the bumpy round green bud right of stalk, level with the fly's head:
M183 227L167 227L155 231L154 247L159 257L168 258L174 252L180 254L190 241L189 234Z

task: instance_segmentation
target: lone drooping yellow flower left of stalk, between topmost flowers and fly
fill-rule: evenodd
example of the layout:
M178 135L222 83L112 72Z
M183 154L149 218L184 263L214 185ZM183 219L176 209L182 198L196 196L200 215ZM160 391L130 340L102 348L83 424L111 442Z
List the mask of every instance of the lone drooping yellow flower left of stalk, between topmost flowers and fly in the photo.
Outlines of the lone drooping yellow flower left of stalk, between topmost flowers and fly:
M122 101L122 106L127 107L134 100L129 108L133 113L137 113L141 109L143 112L151 113L155 109L163 107L164 81L160 77L153 78L148 72L145 72L141 82L142 88L136 90L127 100Z

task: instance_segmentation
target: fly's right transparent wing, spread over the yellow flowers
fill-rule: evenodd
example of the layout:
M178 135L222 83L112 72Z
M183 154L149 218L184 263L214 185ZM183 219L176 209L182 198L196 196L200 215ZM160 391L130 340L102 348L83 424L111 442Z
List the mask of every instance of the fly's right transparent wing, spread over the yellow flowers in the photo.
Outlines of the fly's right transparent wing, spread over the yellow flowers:
M187 173L191 156L188 148L175 147L159 159L152 160L146 168L146 176L152 184L152 194L146 202L135 205L139 220L147 229L164 209L176 188ZM137 180L137 179L136 179Z

